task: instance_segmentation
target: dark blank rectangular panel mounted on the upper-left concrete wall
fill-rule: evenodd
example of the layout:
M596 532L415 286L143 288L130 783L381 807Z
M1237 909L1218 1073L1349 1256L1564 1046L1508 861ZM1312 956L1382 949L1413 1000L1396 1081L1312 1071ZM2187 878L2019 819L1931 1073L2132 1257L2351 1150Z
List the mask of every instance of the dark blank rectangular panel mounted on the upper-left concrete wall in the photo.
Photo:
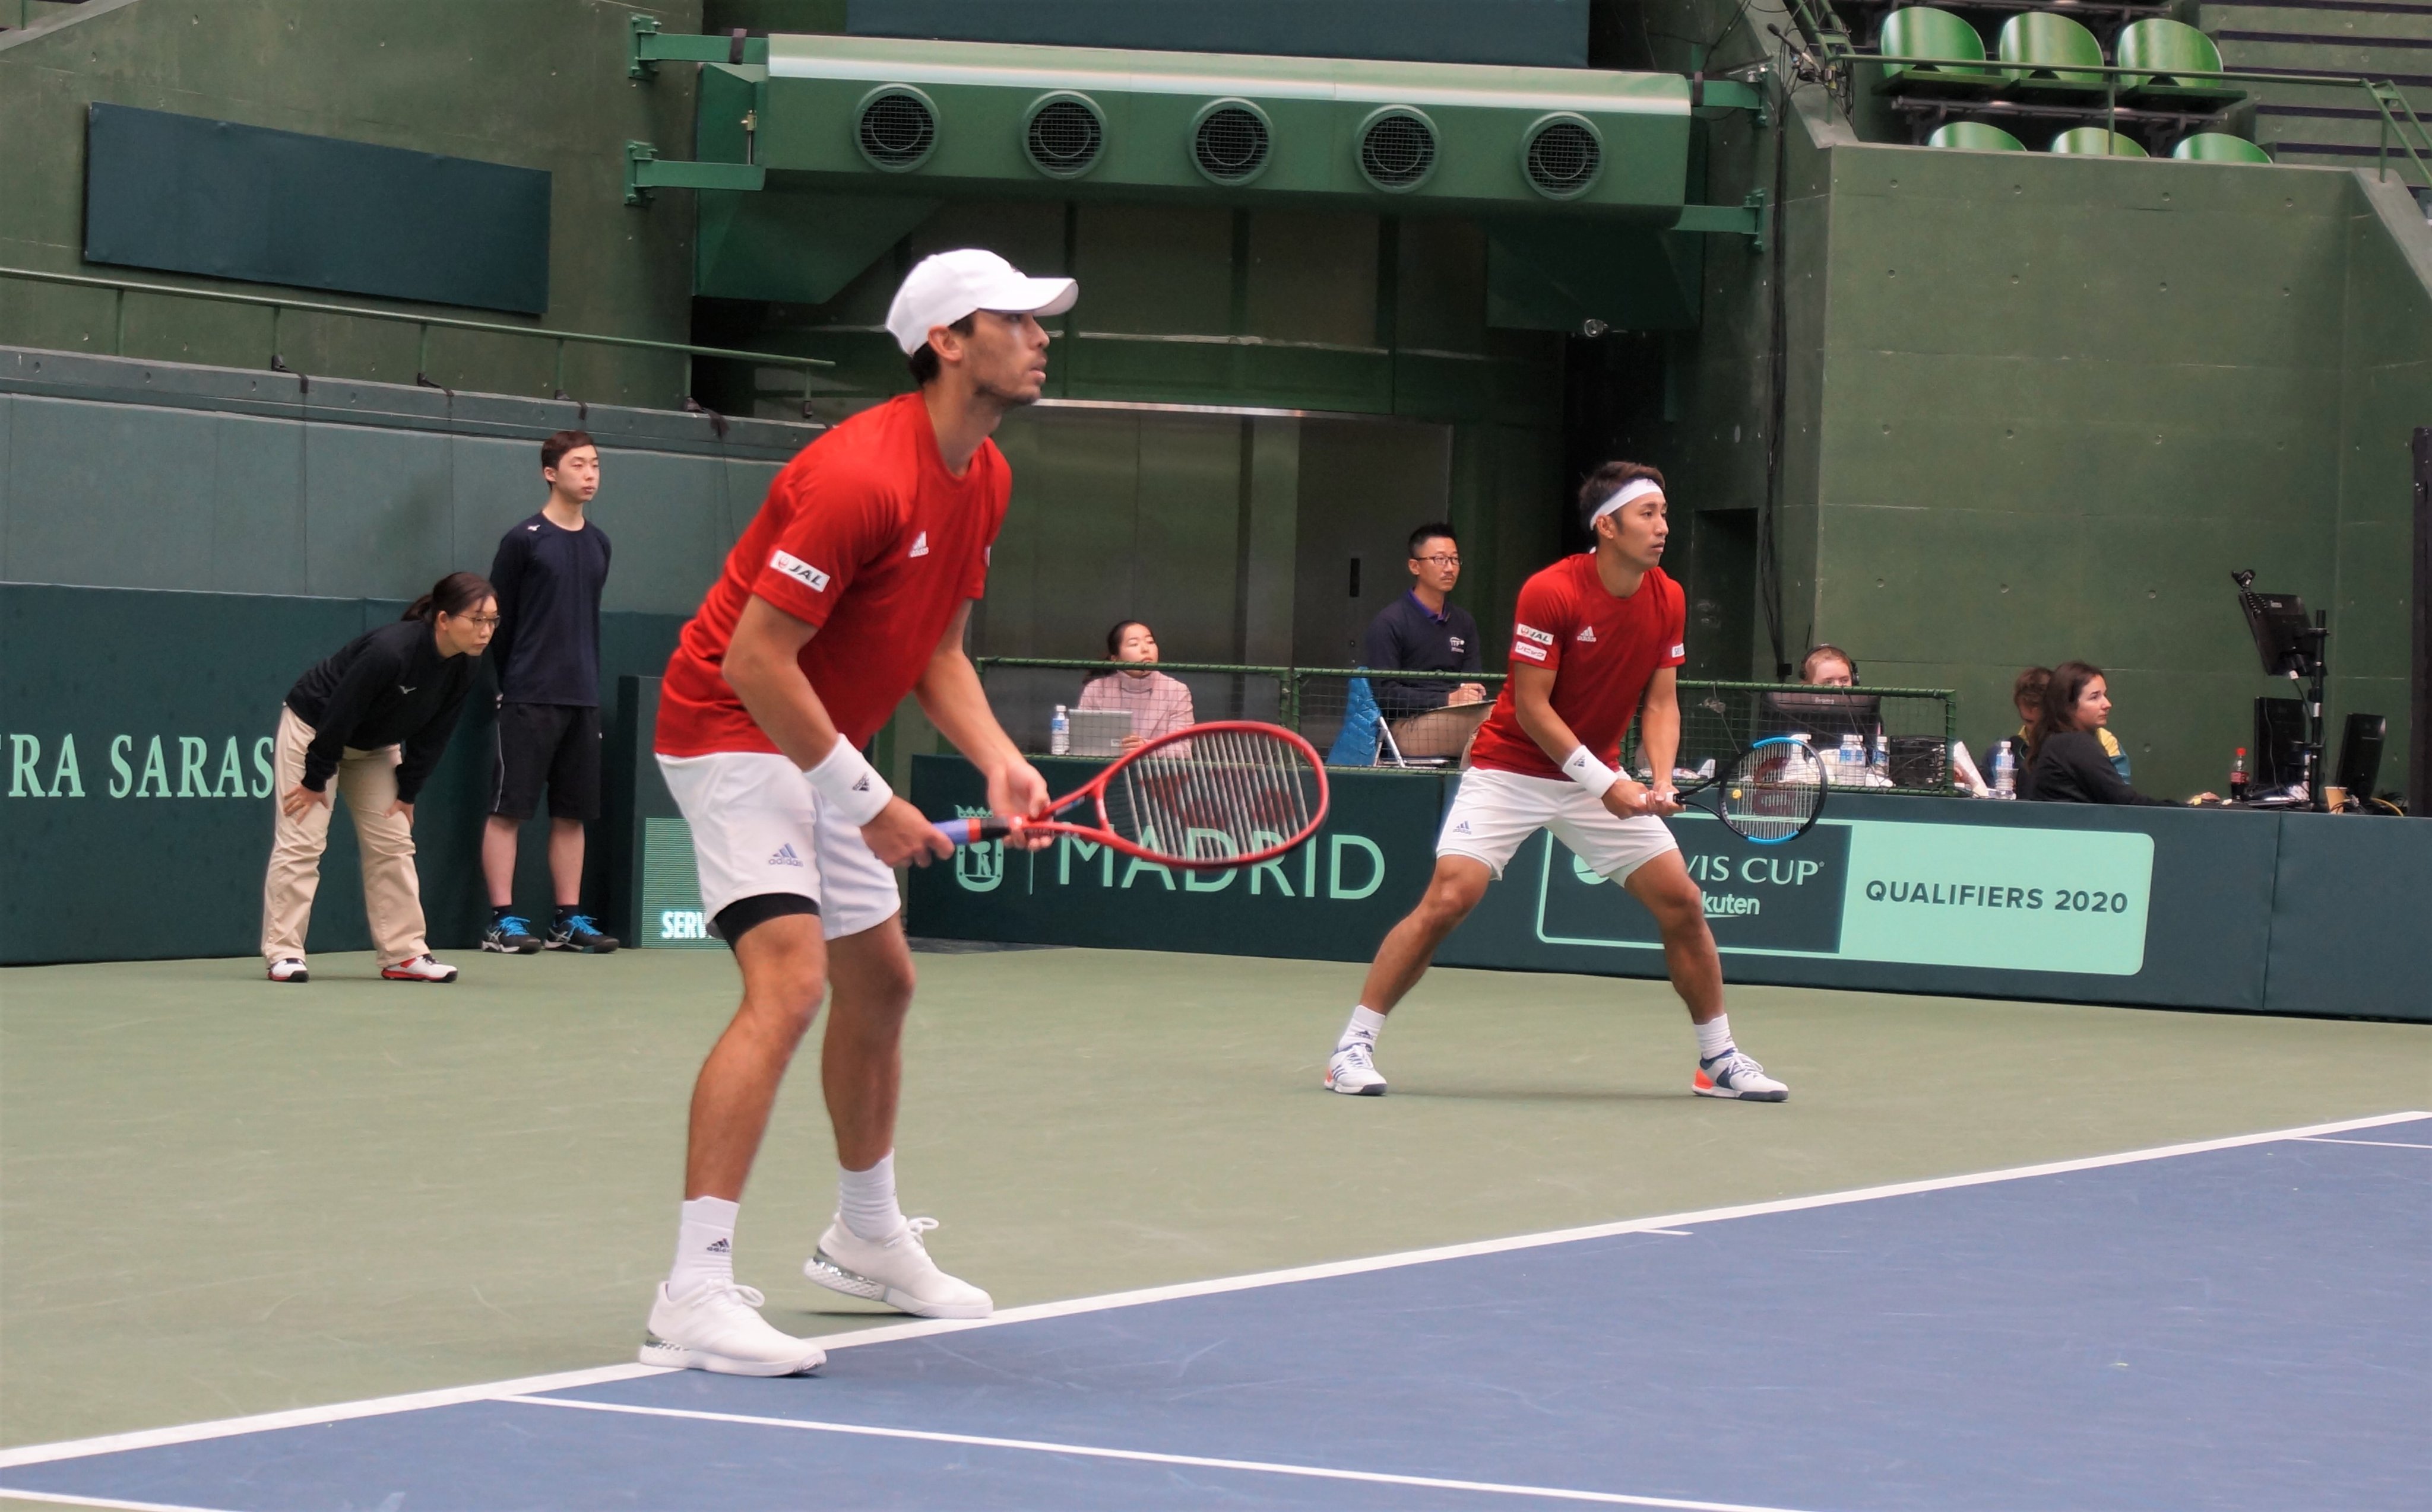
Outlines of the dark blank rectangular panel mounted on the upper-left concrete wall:
M92 105L85 260L540 314L550 175Z

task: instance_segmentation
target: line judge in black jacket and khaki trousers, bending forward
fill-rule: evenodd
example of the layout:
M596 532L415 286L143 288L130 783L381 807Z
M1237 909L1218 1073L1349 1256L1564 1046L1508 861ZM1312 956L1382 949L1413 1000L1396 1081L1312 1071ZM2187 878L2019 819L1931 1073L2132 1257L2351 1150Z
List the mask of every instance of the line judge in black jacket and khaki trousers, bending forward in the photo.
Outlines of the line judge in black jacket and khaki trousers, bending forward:
M263 880L263 960L272 982L304 982L304 931L328 848L331 778L362 841L362 912L379 975L455 982L430 960L423 890L413 875L413 797L455 732L472 659L499 630L489 579L452 571L406 617L358 634L287 690L277 734L280 807Z

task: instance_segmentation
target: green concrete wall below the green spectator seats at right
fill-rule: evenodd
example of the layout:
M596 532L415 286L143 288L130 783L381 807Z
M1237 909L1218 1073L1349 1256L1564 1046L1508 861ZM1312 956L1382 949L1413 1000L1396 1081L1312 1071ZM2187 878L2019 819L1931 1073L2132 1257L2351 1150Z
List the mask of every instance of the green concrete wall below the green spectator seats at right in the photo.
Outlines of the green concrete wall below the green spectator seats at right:
M2393 715L2403 749L2388 547L2432 297L2357 177L1882 146L1829 173L1792 625L1958 688L1977 746L2019 666L2106 666L2138 783L2184 795L2276 690L2228 581L2252 566L2332 608L2332 720Z

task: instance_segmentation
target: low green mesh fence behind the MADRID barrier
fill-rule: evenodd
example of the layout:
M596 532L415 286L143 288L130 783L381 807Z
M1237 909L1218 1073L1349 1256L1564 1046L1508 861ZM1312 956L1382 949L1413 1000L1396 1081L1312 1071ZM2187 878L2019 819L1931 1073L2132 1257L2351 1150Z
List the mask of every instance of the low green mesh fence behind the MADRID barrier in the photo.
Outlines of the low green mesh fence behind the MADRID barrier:
M1048 720L1055 705L1080 712L1082 688L1107 676L1114 664L1080 656L980 656L980 681L1004 732L1024 751L1046 756ZM1262 720L1296 729L1335 758L1335 744L1359 700L1379 715L1372 761L1347 751L1350 766L1442 771L1462 763L1469 737L1503 690L1501 673L1377 673L1345 666L1231 666L1214 661L1160 661L1158 671L1192 693L1194 720ZM1107 756L1092 746L1104 732L1077 729L1075 754ZM1673 766L1683 773L1729 768L1761 739L1805 737L1826 771L1846 739L1873 754L1875 734L1885 737L1887 771L1865 758L1848 763L1851 783L1885 792L1948 795L1958 788L1950 773L1950 741L1958 737L1958 700L1941 688L1809 688L1802 683L1724 683L1681 681L1681 751ZM1622 744L1622 761L1642 771L1637 727ZM1642 773L1644 775L1644 773ZM1887 785L1885 785L1887 783Z

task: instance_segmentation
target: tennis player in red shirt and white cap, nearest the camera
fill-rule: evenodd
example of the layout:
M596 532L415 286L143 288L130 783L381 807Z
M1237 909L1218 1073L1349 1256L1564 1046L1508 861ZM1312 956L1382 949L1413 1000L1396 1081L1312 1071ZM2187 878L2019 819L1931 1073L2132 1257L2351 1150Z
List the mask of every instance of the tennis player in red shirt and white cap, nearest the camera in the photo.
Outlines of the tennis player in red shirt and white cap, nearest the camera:
M700 902L734 950L744 1002L693 1084L676 1264L642 1364L793 1376L827 1359L759 1315L764 1298L734 1283L732 1262L769 1106L827 987L820 1084L841 1177L805 1274L922 1318L985 1318L992 1305L929 1259L922 1235L936 1220L895 1203L912 955L890 868L953 848L858 746L912 693L987 778L995 812L1046 807L1046 783L980 693L963 625L1012 496L990 433L1038 399L1038 316L1077 292L983 250L914 267L888 331L919 389L844 421L776 474L666 664L659 771L693 829Z

